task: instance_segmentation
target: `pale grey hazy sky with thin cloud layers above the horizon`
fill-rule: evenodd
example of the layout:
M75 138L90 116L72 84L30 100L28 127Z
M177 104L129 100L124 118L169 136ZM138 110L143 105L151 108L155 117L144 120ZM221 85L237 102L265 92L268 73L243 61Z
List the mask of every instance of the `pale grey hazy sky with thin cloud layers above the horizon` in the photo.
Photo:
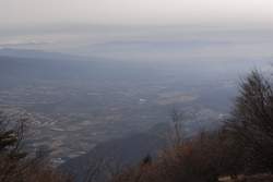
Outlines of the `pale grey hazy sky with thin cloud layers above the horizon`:
M273 41L272 0L0 0L0 48Z

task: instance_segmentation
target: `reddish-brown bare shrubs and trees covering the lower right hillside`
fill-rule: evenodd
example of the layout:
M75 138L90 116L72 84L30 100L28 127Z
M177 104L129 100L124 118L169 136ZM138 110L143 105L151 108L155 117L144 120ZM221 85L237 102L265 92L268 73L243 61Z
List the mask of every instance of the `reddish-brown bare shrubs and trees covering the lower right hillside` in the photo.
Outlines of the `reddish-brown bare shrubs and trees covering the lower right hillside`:
M135 165L114 181L215 182L221 175L273 172L273 81L257 69L241 77L239 94L232 98L230 116L223 125L185 136L185 117L171 110L164 128L166 146L152 165ZM246 177L244 181L265 181ZM266 179L272 181L272 177ZM240 179L238 179L240 181Z

